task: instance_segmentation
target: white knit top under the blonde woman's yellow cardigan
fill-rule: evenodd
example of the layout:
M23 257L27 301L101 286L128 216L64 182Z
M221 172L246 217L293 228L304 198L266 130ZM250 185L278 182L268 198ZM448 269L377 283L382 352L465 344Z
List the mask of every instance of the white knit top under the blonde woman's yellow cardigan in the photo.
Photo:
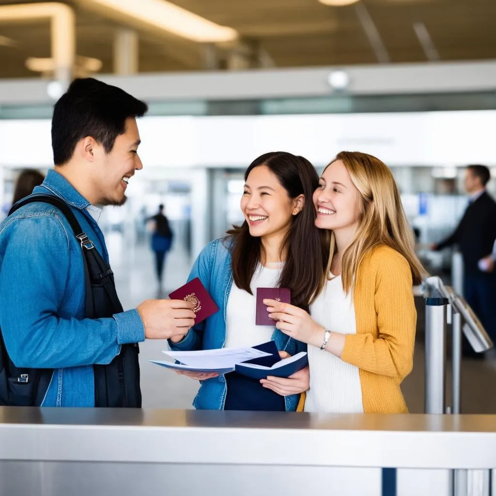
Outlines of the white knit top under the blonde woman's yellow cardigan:
M356 334L355 308L351 292L343 291L341 276L327 281L310 306L312 318L326 329ZM323 340L323 335L322 335ZM332 353L308 347L310 390L306 412L363 413L362 388L358 367L343 362Z

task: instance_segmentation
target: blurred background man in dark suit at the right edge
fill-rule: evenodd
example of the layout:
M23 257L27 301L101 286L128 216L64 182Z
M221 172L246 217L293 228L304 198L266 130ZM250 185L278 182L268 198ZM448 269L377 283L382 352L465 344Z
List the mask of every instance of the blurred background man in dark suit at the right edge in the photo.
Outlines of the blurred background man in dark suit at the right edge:
M488 263L496 239L496 202L486 191L490 178L484 165L467 167L465 189L470 194L469 205L455 232L432 248L458 245L464 265L465 300L496 341L496 273L494 263Z

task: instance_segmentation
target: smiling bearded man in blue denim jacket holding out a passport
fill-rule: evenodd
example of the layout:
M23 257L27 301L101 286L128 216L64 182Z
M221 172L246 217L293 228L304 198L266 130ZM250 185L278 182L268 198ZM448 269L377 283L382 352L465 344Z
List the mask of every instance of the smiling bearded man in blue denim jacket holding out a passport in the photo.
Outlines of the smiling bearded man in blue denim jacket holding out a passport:
M97 205L125 202L128 181L143 167L136 118L146 112L145 103L91 78L75 80L55 105L55 170L34 194L52 195L69 205L91 244L75 237L62 209L40 200L21 206L0 225L1 337L16 368L53 370L43 406L105 406L97 397L102 367L112 365L126 346L137 349L134 343L145 338L184 335L194 323L191 305L182 300L147 300L122 311L113 277L112 287L105 289L109 295L114 292L109 298L121 310L88 318L85 307L87 291L91 296L93 289L86 283L82 251L96 249L108 264ZM109 274L110 268L101 276ZM139 368L130 370L133 377L125 380L137 387L131 406L140 406ZM115 379L122 382L126 370L118 372ZM27 383L29 374L17 379ZM104 386L111 396L111 382Z

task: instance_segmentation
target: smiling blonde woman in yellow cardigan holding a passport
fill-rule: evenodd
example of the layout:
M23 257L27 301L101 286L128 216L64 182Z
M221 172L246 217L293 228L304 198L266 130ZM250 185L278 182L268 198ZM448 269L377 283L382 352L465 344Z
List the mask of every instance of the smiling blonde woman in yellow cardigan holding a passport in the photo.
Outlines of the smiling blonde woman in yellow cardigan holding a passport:
M377 158L341 152L320 177L313 203L315 226L330 233L330 254L311 317L264 301L278 329L309 344L305 411L407 413L400 384L413 366L412 284L423 268L398 187Z

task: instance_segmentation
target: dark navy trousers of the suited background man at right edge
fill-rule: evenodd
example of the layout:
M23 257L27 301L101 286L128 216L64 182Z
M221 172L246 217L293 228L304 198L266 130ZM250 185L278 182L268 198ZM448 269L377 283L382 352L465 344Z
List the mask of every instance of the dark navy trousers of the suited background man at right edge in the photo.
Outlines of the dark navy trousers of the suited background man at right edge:
M493 341L496 340L496 275L466 273L464 297Z

